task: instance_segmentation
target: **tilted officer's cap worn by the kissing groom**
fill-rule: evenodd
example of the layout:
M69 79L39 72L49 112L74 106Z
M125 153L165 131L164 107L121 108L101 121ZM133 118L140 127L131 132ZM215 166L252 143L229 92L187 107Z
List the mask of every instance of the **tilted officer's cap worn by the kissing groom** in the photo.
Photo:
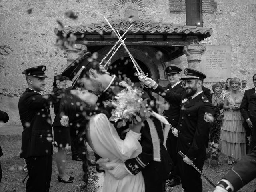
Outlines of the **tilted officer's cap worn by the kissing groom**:
M83 74L86 66L92 62L92 54L90 52L85 52L82 56L74 60L61 74L61 76L68 77L71 80L72 88L75 88L77 80Z

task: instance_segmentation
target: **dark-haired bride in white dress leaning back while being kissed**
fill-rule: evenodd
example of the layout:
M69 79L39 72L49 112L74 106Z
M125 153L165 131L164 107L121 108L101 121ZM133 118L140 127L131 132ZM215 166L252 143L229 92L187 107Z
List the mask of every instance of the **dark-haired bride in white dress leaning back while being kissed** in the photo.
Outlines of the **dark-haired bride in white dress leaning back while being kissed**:
M68 116L70 132L76 135L76 144L80 145L85 188L88 184L88 160L86 142L96 154L108 158L112 162L124 162L135 158L142 152L140 129L142 122L134 124L132 130L121 140L114 126L108 120L104 110L96 105L98 97L88 91L71 90L61 100L61 109ZM65 117L63 116L63 117ZM122 179L114 178L109 170L104 170L103 192L144 192L145 184L142 172L136 175L128 174Z

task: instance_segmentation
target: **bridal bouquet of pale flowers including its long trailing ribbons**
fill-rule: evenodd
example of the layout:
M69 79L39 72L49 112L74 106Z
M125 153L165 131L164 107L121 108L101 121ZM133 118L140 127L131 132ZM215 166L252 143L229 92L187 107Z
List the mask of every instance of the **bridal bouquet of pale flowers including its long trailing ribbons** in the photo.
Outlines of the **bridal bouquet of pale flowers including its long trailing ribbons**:
M153 120L149 117L154 116L165 124L164 143L166 142L170 130L170 124L163 116L151 110L150 106L148 106L147 99L142 98L141 90L132 88L124 81L120 82L119 85L124 87L124 89L117 94L115 97L116 100L112 101L112 105L115 109L112 110L110 121L118 122L117 128L120 128L125 126L127 122L137 123L141 122L142 118L145 118L152 138L154 161L161 161L158 133Z

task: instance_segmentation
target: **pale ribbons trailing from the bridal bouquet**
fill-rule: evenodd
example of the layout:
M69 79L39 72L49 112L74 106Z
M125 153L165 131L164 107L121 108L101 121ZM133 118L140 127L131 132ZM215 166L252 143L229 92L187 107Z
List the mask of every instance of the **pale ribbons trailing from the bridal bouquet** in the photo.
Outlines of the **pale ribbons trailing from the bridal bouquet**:
M164 128L164 143L166 143L168 132L170 131L170 124L169 124L169 122L166 120L166 118L164 118L164 116L162 116L160 114L157 114L154 111L152 112L151 115L154 116L155 118L157 118L163 124L165 124L165 128ZM147 118L146 121L148 122L149 130L150 130L150 135L151 135L151 138L152 138L154 161L159 161L160 162L161 161L161 157L160 157L160 141L159 141L158 134L156 132L156 127L155 127L154 122L152 121L152 119Z

